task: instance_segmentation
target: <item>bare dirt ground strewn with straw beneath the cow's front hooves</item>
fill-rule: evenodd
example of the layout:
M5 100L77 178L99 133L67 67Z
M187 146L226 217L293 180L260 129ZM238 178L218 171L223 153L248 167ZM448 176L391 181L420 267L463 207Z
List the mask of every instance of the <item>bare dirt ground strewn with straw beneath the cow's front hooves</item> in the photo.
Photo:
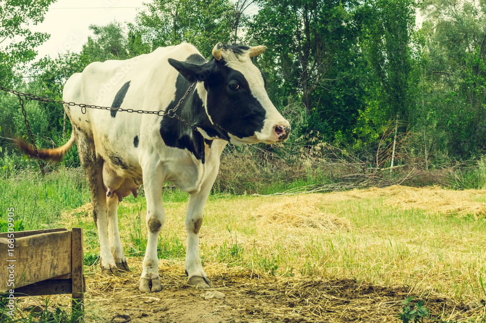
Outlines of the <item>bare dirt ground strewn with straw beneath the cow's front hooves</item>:
M220 266L205 266L210 267L207 272L216 287L211 290L187 285L183 270L163 260L161 267L170 269L160 271L162 291L157 293L138 290L138 271L121 277L88 276L86 309L111 323L399 322L401 302L414 295L430 309L431 318L444 313L467 317L481 311L434 291L411 292L405 286L382 287L353 279L275 277ZM224 298L207 298L214 290Z

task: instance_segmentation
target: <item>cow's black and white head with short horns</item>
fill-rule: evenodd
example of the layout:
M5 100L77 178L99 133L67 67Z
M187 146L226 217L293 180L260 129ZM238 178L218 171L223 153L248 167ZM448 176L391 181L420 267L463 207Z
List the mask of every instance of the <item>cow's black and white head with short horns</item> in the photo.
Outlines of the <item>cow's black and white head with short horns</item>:
M265 76L253 65L251 57L265 46L243 45L214 47L213 57L204 62L169 63L190 82L204 83L206 93L199 93L214 129L224 133L233 144L276 143L288 138L290 123L268 98ZM207 139L217 136L201 130Z

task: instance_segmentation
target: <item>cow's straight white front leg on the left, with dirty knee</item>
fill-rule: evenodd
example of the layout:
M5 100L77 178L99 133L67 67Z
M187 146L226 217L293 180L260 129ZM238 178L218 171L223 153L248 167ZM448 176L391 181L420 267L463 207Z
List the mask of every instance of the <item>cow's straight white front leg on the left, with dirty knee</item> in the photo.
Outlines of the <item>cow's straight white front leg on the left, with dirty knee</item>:
M147 198L146 224L148 231L147 250L143 258L142 275L139 280L139 289L143 292L162 290L158 275L157 242L160 230L162 230L165 223L165 213L162 204L164 178L162 171L158 168L149 172L143 172L143 185Z

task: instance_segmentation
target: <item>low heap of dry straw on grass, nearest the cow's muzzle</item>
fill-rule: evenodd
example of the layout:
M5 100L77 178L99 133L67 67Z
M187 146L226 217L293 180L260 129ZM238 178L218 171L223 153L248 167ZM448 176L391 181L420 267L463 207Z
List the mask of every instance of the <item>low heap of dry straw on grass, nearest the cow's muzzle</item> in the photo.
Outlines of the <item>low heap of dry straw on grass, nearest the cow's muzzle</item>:
M318 207L320 204L322 195L287 196L260 206L254 214L262 225L271 223L288 229L297 227L338 231L351 228L349 220L321 211Z

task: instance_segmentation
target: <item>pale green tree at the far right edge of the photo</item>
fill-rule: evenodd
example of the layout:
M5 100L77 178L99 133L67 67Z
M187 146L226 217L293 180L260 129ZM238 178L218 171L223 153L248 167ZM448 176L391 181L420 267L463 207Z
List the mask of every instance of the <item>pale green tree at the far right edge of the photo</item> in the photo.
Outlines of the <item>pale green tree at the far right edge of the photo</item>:
M469 157L486 148L486 4L427 0L421 9L436 126L450 134L450 153Z

